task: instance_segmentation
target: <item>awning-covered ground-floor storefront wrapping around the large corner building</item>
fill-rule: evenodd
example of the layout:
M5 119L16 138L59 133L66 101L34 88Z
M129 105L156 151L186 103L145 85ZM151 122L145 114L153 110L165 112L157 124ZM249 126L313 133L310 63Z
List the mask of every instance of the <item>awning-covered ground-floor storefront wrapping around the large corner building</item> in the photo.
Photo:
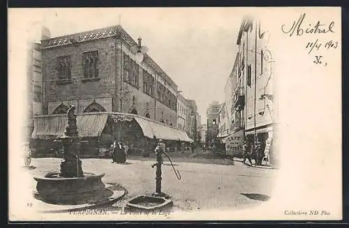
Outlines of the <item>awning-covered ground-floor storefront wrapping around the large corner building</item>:
M61 146L54 142L64 136L66 115L34 117L31 147L36 156L59 156ZM81 144L80 156L107 156L113 140L128 145L130 154L152 151L158 139L167 147L180 147L181 142L193 142L186 132L145 117L125 113L77 114L77 131Z

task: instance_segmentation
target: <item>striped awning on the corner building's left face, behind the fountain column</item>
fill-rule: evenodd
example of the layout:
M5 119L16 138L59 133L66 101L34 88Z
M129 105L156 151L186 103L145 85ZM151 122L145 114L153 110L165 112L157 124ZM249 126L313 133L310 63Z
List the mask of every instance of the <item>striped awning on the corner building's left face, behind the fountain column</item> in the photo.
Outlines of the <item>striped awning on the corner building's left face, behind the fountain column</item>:
M77 131L80 137L98 137L107 122L105 113L77 114ZM64 136L67 115L41 115L34 117L34 131L31 138L55 139Z

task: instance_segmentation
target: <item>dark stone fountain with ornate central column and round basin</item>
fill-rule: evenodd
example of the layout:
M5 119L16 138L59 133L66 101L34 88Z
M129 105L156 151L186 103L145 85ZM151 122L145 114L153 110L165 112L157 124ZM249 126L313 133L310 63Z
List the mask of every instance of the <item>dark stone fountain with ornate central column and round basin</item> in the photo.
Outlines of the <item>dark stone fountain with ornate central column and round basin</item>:
M34 177L37 181L37 198L47 204L84 206L112 203L119 199L120 197L115 197L113 190L103 184L102 177L105 174L82 171L82 162L79 158L82 142L77 131L74 106L68 109L65 128L64 136L55 140L64 147L61 170L48 172L42 177Z

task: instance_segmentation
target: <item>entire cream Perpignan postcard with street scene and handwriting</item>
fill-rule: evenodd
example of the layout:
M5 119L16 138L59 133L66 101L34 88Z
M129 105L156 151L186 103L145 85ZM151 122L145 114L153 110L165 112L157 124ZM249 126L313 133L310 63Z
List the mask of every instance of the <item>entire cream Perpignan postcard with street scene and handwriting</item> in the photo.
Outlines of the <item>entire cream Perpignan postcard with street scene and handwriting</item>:
M9 8L9 220L341 220L341 8Z

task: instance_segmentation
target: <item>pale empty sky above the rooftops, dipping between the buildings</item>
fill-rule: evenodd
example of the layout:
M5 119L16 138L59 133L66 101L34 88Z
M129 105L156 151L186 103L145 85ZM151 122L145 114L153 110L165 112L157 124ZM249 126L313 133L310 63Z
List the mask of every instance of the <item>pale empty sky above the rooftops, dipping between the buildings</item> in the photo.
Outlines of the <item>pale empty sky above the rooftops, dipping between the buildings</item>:
M239 8L50 8L26 11L30 37L40 27L51 37L121 24L142 38L149 56L172 78L186 99L194 99L202 123L212 101L224 101L224 86L237 54L245 10ZM33 29L36 28L36 29Z

